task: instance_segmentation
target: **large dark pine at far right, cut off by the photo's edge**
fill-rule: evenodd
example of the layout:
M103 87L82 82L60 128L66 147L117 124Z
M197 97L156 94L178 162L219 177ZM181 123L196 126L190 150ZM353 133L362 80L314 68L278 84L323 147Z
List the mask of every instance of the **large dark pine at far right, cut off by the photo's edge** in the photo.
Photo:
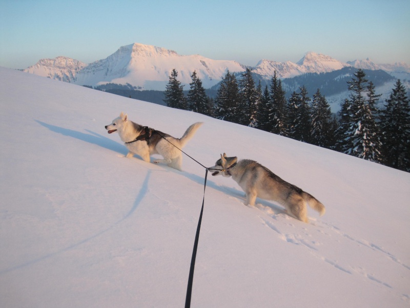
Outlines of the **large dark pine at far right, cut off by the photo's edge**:
M400 80L386 100L385 108L381 112L385 164L410 172L410 105Z

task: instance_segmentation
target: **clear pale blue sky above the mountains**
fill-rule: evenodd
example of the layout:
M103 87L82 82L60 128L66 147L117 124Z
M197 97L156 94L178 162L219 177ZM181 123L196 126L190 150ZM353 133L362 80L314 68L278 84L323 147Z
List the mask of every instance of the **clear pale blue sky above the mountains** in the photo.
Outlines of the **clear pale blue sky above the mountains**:
M308 51L410 64L409 16L409 0L0 0L0 66L91 63L132 43L251 66Z

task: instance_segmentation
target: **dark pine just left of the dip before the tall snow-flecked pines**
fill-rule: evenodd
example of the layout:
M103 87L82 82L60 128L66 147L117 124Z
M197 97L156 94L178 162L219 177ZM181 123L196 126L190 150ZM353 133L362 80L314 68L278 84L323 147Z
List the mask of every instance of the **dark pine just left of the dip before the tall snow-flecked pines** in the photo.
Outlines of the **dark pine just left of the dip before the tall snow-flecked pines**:
M312 100L312 144L330 148L333 145L333 123L330 105L317 89Z

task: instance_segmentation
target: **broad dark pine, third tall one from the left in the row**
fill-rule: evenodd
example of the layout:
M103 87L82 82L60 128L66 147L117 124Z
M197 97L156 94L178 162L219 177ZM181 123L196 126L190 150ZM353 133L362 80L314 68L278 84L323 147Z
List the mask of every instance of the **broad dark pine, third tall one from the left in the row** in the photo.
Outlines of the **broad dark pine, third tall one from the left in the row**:
M233 73L227 71L215 98L215 117L224 121L239 123L240 105L238 82Z

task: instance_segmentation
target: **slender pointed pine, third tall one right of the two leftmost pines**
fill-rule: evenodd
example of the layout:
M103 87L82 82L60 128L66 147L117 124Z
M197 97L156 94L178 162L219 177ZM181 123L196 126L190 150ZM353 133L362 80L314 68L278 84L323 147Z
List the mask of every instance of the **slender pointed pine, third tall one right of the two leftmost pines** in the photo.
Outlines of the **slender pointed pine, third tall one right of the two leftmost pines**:
M282 82L277 78L276 71L271 82L271 105L272 110L269 114L268 128L270 132L286 136L286 98L285 92L282 89Z

